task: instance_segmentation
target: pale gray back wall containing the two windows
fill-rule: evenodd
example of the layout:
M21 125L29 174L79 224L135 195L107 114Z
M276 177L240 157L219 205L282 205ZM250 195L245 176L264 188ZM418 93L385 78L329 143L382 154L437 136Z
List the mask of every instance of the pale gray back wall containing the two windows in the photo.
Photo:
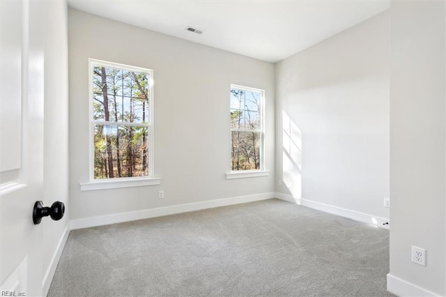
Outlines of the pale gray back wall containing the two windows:
M274 192L274 65L69 10L70 218ZM236 40L234 40L236 42ZM161 185L81 191L89 181L88 59L154 70L155 176ZM266 90L268 177L226 180L230 84ZM164 190L164 199L157 198Z

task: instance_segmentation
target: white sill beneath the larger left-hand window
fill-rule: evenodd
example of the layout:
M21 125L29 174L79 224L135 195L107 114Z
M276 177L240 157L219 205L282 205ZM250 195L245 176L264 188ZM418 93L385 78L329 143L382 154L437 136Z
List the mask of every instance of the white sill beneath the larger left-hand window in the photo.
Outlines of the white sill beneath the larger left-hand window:
M89 181L80 183L81 191L106 190L117 188L142 187L144 185L160 185L161 178L123 178L114 181Z

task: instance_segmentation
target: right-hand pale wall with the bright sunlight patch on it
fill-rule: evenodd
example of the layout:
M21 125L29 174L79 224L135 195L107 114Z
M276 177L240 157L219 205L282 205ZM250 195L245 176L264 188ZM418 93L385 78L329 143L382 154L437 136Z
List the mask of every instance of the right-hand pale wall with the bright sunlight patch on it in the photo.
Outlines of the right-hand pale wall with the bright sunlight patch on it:
M389 218L389 63L388 13L277 63L279 192L369 222ZM301 155L286 151L288 117Z

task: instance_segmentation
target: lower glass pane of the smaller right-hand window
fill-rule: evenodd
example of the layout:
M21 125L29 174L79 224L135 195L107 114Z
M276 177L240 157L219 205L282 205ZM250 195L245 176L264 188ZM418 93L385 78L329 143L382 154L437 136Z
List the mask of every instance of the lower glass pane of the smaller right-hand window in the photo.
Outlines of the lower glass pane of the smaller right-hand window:
M260 169L260 132L232 132L231 169Z

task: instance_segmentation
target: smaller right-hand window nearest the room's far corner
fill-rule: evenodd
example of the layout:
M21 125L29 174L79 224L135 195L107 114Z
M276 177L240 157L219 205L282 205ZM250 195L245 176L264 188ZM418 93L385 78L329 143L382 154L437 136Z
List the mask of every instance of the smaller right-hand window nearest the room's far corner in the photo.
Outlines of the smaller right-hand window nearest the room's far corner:
M264 91L231 84L231 171L263 170Z

